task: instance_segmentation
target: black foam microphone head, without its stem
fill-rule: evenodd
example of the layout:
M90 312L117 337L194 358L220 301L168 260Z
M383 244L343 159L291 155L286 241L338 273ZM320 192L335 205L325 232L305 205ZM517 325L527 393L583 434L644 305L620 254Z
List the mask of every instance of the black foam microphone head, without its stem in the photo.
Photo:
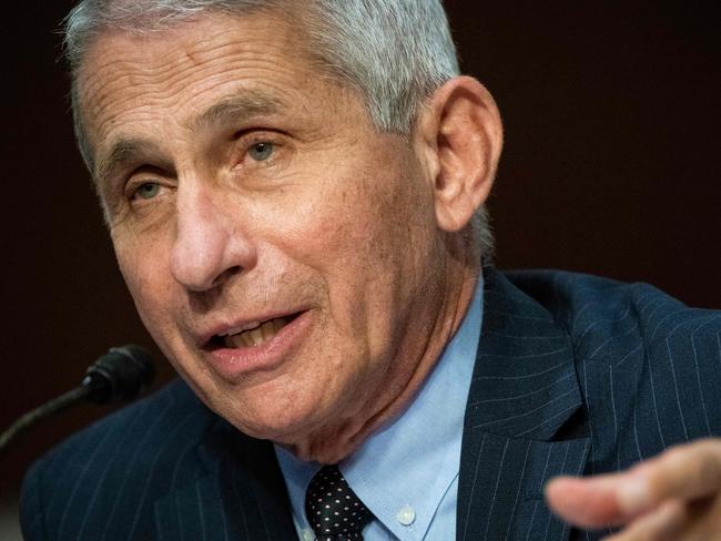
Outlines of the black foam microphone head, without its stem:
M153 360L140 346L112 347L93 363L82 385L90 389L89 399L111 404L136 398L155 377Z

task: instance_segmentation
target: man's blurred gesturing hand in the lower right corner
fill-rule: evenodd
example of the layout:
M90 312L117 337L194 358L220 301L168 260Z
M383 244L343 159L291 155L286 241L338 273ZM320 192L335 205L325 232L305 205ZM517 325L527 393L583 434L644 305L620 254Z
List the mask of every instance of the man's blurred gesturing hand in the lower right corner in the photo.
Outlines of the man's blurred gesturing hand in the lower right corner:
M721 439L668 449L616 474L556 478L546 499L578 527L624 527L607 541L719 541Z

